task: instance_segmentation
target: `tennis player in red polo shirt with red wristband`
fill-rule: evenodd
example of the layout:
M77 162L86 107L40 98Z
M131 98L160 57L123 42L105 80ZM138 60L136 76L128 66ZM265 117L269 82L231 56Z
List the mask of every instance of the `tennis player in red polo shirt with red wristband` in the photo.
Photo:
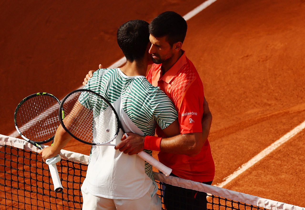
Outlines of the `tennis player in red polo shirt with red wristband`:
M160 162L173 169L172 176L211 184L215 166L207 137L212 115L199 74L182 50L186 31L186 21L176 12L163 12L149 25L149 53L154 64L146 77L174 102L180 135L166 137L160 128L156 129L158 137L128 133L129 137L115 148L129 155L143 149L159 151ZM90 78L89 74L85 82ZM167 210L206 209L205 193L165 186Z

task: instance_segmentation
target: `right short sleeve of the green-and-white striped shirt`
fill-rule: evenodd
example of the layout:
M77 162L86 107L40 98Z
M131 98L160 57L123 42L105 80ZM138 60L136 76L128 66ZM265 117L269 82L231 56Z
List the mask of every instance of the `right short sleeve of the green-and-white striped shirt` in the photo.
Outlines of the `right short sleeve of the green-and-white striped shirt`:
M154 97L152 105L155 105L153 117L162 130L167 128L167 126L178 118L173 102L160 89Z

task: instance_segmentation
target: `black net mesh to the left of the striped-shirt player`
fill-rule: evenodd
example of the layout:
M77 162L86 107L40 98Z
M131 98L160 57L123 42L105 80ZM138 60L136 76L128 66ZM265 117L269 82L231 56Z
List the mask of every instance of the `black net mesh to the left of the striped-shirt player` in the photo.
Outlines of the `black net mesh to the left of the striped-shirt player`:
M81 209L87 165L62 159L58 169L64 191L55 193L48 165L38 153L1 147L0 209Z

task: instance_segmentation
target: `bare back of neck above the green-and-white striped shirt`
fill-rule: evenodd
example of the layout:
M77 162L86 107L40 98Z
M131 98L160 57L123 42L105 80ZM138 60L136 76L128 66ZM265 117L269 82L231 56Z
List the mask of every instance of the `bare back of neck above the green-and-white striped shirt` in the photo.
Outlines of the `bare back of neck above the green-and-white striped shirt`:
M147 71L147 62L130 62L127 60L126 64L120 69L128 77L145 76Z

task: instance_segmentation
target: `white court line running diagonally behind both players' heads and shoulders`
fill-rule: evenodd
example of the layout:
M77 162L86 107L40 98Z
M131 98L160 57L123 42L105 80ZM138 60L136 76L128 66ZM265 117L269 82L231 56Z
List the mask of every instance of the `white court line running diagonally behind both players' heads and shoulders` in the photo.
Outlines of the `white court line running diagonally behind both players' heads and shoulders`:
M199 5L198 7L196 7L195 9L193 9L192 11L188 12L185 16L183 16L183 18L185 20L189 20L192 17L194 17L195 15L197 15L199 12L201 12L203 9L206 9L208 6L210 6L212 3L216 2L217 0L207 0L205 2L203 2L201 5ZM118 60L117 62L111 64L108 68L109 69L113 69L113 68L117 68L119 66L122 66L123 64L126 63L126 58L123 57L120 60ZM77 89L83 89L83 85L78 87ZM63 99L60 99L60 101ZM12 133L10 133L8 136L10 137L14 137L17 138L19 137L19 133L17 131L14 131Z

